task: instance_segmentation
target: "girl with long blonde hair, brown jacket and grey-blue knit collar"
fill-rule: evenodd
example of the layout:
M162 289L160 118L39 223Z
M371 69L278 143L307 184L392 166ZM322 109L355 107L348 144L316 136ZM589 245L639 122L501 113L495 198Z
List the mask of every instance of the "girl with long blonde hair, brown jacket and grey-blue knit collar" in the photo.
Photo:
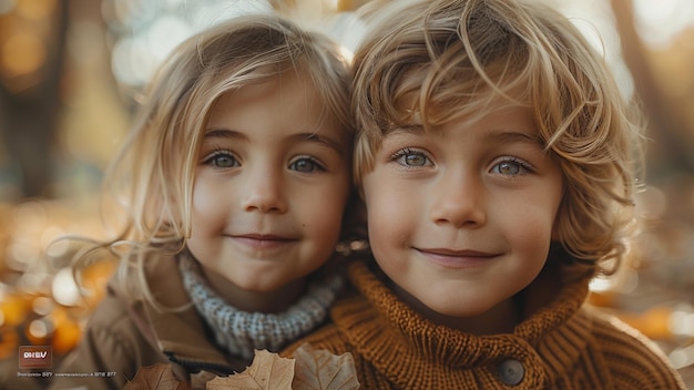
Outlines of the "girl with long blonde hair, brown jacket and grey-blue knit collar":
M54 388L120 389L157 362L204 388L323 322L351 193L348 74L334 42L273 16L180 45L112 171L125 232L81 257L111 249L120 267L57 370L109 378Z

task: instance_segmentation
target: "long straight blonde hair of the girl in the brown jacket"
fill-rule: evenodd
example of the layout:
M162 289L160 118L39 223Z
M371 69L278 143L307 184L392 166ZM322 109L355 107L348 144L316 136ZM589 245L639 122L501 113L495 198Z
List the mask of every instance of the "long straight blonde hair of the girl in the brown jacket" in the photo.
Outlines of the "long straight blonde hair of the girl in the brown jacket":
M115 250L122 259L119 279L127 281L135 269L152 298L143 260L153 250L175 254L191 234L194 172L212 109L223 94L285 72L312 83L324 115L337 117L351 142L349 61L336 42L273 14L222 22L178 45L150 83L104 179L105 193L116 194L116 212L124 216L121 233L79 256L75 269L99 249Z

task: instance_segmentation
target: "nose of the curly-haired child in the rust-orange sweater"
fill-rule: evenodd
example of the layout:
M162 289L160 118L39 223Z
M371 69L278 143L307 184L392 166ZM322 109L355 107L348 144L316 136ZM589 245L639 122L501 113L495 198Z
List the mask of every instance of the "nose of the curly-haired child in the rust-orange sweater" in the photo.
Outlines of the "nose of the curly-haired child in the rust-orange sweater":
M481 178L453 173L443 175L432 188L431 219L455 227L480 227L487 223L487 195Z

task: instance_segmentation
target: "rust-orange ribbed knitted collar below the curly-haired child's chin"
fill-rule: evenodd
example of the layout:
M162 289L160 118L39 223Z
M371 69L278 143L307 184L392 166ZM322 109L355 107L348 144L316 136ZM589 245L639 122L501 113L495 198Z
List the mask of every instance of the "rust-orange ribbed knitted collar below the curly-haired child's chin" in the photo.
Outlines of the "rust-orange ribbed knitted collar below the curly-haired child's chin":
M590 322L576 315L588 295L588 277L561 287L551 304L532 314L513 333L476 336L437 326L400 301L363 261L349 266L349 277L361 292L333 308L340 332L357 353L399 386L438 372L453 378L466 370L518 357L547 367L549 377L561 376L585 346ZM519 345L531 345L543 357L528 355ZM404 363L407 357L407 365ZM557 358L559 357L559 358ZM541 387L551 378L525 378L524 383Z

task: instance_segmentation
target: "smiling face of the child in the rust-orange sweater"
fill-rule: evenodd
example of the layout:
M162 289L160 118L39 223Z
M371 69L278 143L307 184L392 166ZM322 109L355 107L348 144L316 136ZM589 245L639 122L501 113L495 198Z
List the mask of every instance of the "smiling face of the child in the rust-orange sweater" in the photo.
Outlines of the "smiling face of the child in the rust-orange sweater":
M386 135L363 189L374 256L407 304L477 317L538 276L562 174L537 136L520 107Z

